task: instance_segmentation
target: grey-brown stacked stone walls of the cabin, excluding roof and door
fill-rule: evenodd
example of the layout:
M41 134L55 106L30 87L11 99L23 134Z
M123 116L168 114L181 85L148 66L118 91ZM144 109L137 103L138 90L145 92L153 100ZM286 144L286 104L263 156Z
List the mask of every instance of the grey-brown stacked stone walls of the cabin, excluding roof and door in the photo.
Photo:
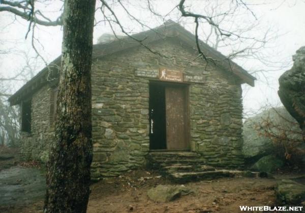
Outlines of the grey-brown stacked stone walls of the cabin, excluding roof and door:
M176 38L149 45L170 59L134 47L93 61L92 177L115 176L145 165L149 151L149 81L158 78L136 76L135 71L160 67L205 79L188 86L191 150L200 153L209 165L241 166L241 88L235 77L212 62L194 61L196 49ZM23 138L22 146L28 157L41 158L40 150L51 144L49 93L46 86L33 96L32 136Z

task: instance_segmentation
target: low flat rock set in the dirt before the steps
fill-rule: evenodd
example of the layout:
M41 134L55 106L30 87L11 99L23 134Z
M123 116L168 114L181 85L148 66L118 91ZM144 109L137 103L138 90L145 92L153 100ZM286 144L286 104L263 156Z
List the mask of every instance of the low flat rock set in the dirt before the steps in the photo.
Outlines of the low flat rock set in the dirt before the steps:
M190 194L192 191L184 185L158 185L148 190L147 195L156 202L169 202L179 198L181 195Z

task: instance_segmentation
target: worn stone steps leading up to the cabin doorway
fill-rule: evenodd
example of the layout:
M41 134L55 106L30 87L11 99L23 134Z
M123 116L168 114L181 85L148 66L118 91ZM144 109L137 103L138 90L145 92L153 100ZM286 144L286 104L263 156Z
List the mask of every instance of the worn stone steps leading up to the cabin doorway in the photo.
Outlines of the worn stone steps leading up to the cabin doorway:
M205 160L194 152L154 151L148 154L147 161L150 169L158 170L178 183L220 177L259 176L259 173L255 172L224 170L207 166Z

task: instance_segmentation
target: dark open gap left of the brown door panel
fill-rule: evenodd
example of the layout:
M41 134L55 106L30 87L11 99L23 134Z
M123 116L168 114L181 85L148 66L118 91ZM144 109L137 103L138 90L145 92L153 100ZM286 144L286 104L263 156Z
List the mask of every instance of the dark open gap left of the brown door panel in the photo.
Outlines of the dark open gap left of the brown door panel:
M149 149L166 149L165 86L149 84Z

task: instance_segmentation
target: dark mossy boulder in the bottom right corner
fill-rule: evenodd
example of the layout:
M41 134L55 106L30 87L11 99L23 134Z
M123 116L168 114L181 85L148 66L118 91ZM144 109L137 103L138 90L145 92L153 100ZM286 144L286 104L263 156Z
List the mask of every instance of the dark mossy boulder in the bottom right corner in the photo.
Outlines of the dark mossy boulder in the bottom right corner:
M305 185L284 179L277 184L276 195L279 204L298 205L305 201Z

